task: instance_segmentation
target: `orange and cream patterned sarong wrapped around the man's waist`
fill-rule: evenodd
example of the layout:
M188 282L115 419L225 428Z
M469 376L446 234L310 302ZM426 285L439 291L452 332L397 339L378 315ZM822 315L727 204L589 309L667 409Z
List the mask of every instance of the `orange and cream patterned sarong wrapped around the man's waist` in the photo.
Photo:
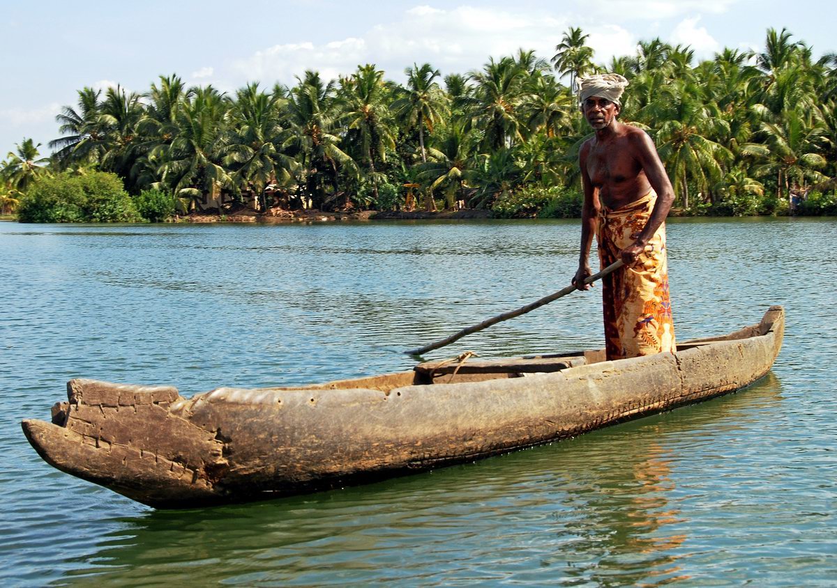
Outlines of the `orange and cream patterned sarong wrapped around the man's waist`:
M602 268L619 259L622 249L639 237L656 200L652 190L626 207L601 208L596 240ZM602 279L608 360L676 351L665 254L664 222L632 266Z

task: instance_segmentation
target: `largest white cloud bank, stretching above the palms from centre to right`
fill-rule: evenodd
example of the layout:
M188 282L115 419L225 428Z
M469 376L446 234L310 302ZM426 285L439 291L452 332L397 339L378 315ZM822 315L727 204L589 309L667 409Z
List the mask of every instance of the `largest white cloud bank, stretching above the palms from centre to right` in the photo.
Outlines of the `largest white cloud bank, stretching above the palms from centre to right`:
M416 5L403 10L400 17L386 23L374 23L356 36L315 41L276 44L249 57L237 59L229 75L219 84L235 86L259 81L265 86L275 82L295 84L295 76L306 69L321 74L322 79L336 79L351 74L358 65L376 64L388 79L403 82L403 70L428 62L442 74L467 73L480 69L490 58L516 54L518 49L534 49L542 59L551 59L555 46L571 26L581 27L593 48L593 60L607 65L614 56L634 55L639 38L658 36L669 29L666 19L681 15L680 23L670 29L670 41L690 45L696 54L711 54L720 44L700 25L700 17L682 18L682 13L723 13L742 0L589 0L593 13L583 16L559 8L541 11L506 5L451 5L435 8ZM438 4L436 6L442 6ZM607 9L611 18L598 17L596 8ZM629 24L616 24L619 18L644 20L636 30ZM702 55L701 55L702 56ZM216 75L216 78L218 75Z

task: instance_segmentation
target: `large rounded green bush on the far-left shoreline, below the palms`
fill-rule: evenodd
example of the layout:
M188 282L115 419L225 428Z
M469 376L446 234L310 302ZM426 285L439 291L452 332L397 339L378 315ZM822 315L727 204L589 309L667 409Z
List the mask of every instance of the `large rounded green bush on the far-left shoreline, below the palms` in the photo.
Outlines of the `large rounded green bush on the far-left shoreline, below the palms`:
M116 174L62 173L35 182L18 206L20 222L137 222L141 216Z

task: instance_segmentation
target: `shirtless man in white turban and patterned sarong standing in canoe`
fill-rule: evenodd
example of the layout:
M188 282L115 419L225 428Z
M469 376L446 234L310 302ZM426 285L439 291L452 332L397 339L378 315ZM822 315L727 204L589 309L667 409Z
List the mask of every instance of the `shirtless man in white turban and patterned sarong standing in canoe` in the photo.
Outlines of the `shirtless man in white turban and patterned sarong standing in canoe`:
M650 137L617 120L628 80L619 74L581 79L581 108L595 135L579 155L584 204L581 255L573 284L584 279L593 234L601 267L625 266L603 282L604 338L608 360L674 352L665 217L674 190Z

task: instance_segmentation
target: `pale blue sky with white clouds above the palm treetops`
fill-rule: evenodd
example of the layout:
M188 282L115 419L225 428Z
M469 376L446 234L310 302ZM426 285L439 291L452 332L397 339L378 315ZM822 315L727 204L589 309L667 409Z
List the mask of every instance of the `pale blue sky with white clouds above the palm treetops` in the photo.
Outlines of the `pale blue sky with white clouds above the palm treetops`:
M657 37L696 59L761 50L768 28L787 28L815 57L837 52L824 0L0 0L0 10L0 159L24 137L48 155L55 115L85 86L144 93L160 75L233 93L369 63L403 82L425 62L444 76L521 48L550 59L570 27L589 34L598 64Z

